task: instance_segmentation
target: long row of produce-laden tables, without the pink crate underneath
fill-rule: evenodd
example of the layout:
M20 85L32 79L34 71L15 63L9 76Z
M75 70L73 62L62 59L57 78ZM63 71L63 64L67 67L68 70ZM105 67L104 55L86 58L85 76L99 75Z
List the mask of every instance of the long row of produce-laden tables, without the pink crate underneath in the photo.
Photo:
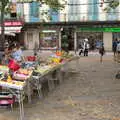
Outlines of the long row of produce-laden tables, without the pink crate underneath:
M41 84L40 80L46 76L48 76L49 80L49 75L54 74L54 71L57 71L58 74L56 77L61 82L61 68L68 62L75 60L77 57L65 52L57 51L56 53L48 56L45 61L38 61L38 59L35 61L35 59L32 59L32 56L29 58L29 61L25 61L21 66L11 65L11 67L0 65L0 86L14 94L18 99L20 120L23 120L24 118L23 99L26 91L24 88L27 88L28 100L31 102L32 93L30 92L32 90L30 84L35 83L34 80L37 81L36 87L38 91L39 84Z

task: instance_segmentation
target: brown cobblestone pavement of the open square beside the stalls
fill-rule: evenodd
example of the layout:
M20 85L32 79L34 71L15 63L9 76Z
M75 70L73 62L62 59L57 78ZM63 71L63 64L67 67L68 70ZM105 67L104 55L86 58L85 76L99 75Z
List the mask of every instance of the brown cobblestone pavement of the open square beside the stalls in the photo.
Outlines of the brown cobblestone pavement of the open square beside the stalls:
M79 65L69 63L68 77L44 100L25 104L25 120L120 120L118 70L112 55L103 63L98 55L80 57ZM17 120L18 109L0 114Z

